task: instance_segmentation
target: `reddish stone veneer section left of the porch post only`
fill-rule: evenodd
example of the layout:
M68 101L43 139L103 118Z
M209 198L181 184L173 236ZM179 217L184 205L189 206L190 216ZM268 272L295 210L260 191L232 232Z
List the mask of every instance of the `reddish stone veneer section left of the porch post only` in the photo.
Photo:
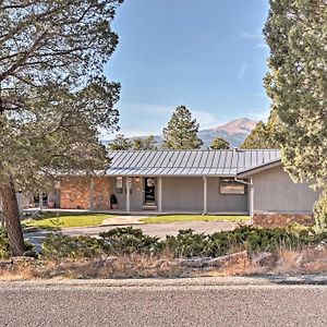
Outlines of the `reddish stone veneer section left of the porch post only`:
M62 179L60 181L60 208L89 209L89 186L88 178Z

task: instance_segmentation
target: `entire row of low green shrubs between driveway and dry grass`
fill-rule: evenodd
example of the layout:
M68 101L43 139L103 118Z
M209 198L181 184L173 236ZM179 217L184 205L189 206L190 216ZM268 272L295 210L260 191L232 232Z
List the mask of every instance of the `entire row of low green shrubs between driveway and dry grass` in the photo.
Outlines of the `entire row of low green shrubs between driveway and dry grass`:
M218 257L240 251L249 254L277 251L280 247L301 249L307 245L327 244L327 232L316 233L308 228L258 229L240 227L232 231L213 234L181 230L178 235L159 240L143 233L141 229L117 228L101 233L100 239L52 234L43 244L43 257L47 259L95 257L100 255L158 255L168 251L174 257Z

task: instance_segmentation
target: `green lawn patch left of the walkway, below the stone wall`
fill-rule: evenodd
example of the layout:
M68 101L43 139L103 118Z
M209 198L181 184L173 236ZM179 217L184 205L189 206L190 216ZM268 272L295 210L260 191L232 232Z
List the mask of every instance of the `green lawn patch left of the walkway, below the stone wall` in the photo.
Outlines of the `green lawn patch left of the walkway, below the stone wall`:
M49 217L50 216L50 217ZM116 217L106 214L59 214L46 215L44 218L27 219L23 221L25 227L64 228L64 227L88 227L101 225L104 219Z

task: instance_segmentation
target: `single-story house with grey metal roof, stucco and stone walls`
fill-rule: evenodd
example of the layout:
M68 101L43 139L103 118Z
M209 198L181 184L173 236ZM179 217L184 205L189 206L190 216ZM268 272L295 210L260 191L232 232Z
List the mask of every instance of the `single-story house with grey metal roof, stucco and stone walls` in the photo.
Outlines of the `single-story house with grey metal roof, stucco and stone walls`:
M64 177L49 199L62 209L250 215L262 226L313 222L318 193L290 179L276 149L118 150L109 156L104 175Z

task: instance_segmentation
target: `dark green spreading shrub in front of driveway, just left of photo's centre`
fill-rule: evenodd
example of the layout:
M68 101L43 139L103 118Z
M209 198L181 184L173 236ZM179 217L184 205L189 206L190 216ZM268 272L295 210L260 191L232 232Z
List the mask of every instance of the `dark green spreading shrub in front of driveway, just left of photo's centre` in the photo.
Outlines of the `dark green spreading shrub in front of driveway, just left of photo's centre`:
M146 235L142 229L132 227L111 229L99 235L104 240L105 252L110 254L153 254L162 249L159 238Z

